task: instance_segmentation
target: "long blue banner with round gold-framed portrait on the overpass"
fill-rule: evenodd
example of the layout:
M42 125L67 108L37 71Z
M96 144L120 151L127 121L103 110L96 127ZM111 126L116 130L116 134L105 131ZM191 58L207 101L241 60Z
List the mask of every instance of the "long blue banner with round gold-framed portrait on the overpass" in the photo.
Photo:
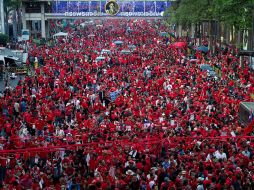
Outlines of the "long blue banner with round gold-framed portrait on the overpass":
M171 1L53 1L52 13L67 17L86 16L162 16L171 5ZM110 7L117 11L110 11ZM108 9L108 10L107 10ZM114 14L110 14L114 13Z

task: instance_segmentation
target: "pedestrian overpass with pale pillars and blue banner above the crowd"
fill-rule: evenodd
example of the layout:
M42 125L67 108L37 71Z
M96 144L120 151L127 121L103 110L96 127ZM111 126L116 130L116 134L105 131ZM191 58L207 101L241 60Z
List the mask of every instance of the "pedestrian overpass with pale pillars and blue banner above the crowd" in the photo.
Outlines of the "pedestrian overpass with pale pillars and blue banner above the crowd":
M106 9L112 1L118 9L109 15ZM50 36L53 25L75 19L161 18L172 1L175 0L22 0L22 25L45 38Z

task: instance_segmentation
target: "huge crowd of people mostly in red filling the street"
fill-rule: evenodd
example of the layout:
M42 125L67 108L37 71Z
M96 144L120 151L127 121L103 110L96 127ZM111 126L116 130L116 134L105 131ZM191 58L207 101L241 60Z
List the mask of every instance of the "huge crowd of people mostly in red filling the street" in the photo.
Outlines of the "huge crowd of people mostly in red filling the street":
M160 20L75 24L30 48L40 66L1 97L2 189L253 189L238 118L253 71L237 49L193 59Z

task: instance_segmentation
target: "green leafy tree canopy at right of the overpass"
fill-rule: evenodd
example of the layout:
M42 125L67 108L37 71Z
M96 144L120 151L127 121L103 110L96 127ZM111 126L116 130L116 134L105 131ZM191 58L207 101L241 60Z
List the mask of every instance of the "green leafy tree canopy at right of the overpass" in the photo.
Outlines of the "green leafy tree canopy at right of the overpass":
M254 0L178 0L165 11L170 23L191 24L216 20L236 29L249 29Z

